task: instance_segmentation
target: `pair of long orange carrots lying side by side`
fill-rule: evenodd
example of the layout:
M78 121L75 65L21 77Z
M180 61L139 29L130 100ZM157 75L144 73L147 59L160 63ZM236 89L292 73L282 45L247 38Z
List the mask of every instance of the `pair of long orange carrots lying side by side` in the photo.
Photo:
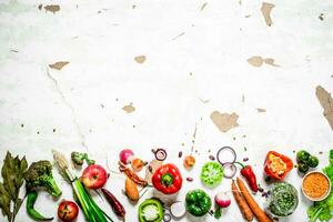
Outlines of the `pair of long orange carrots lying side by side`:
M273 220L270 219L259 206L259 204L255 202L248 188L245 186L244 182L240 178L236 178L236 183L239 188L236 186L234 180L232 180L231 190L243 214L243 218L246 221L253 221L253 218L255 216L259 222L273 222Z

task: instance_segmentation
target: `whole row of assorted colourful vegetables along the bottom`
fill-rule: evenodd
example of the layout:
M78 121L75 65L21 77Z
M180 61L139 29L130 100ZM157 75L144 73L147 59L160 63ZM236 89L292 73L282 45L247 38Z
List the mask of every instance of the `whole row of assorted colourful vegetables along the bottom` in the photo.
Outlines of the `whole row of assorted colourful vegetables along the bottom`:
M89 159L87 153L72 152L70 157L74 167L82 167L83 164L87 164L87 167L82 170L82 175L78 178L71 171L65 157L53 151L53 159L59 173L71 184L74 199L74 201L63 200L60 202L57 211L59 221L75 221L81 210L88 222L112 222L113 220L107 212L95 203L90 193L91 191L101 191L113 213L119 219L125 221L125 208L119 199L103 188L109 179L107 170L102 165L97 164L94 160ZM175 164L163 163L168 157L167 150L153 150L153 160L144 161L137 158L134 152L130 149L124 149L119 153L119 174L124 176L124 194L128 200L133 205L138 204L140 198L148 189L159 191L163 198L149 198L138 204L138 220L140 222L168 222L172 219L181 220L185 214L188 214L191 220L205 220L203 216L214 216L219 220L228 212L223 209L233 204L229 198L229 192L233 194L235 204L239 206L245 221L253 221L254 218L256 218L259 222L272 222L272 218L286 218L291 215L299 205L296 189L292 184L283 182L293 169L293 162L290 158L275 151L270 151L264 160L264 173L274 179L268 192L264 192L263 188L259 186L252 165L236 162L235 150L230 147L223 147L218 150L216 159L213 155L209 157L211 161L203 164L200 176L198 178L202 184L209 189L219 189L218 186L224 176L225 182L230 181L231 190L218 190L212 199L210 193L198 188L188 191L184 200L174 199L170 203L164 200L164 198L176 196L184 182L191 182L195 179L186 178L186 180L183 181L181 170ZM179 158L181 157L182 155L179 154ZM249 159L245 158L243 159L244 162L248 160ZM304 150L296 153L296 161L299 171L303 173L319 164L317 158ZM325 180L326 176L329 178L326 180L330 182L321 183L325 184L325 188L321 188L321 192L319 193L325 193L325 191L327 191L327 198L323 196L323 199L325 198L324 200L321 199L322 201L316 201L309 208L307 215L310 222L317 220L323 222L333 219L333 194L332 190L330 190L331 183L333 183L333 150L330 151L329 161L330 164L323 169L324 174L312 172L305 174L303 179L303 183L306 184L304 188L302 186L304 194L307 192L306 189L311 189L310 185L312 183L317 184L316 182L320 181L319 176L321 174L321 179ZM195 168L194 163L195 159L191 152L191 154L183 160L183 169L191 170ZM236 176L236 180L228 180L236 175L236 164L241 167L239 174L248 182L252 192L250 192L241 178ZM306 167L304 167L305 164ZM79 170L81 168L77 169ZM143 171L145 176L141 176L142 169L145 169ZM117 173L112 170L110 171L111 173ZM310 176L310 174L313 176ZM16 214L23 202L23 200L19 198L19 191L23 184L23 180L26 180L27 190L27 213L36 221L53 220L53 216L43 216L34 209L39 191L44 190L53 198L59 198L62 193L53 178L50 161L37 161L31 163L28 168L24 158L21 160L18 157L12 158L8 152L2 165L1 175L3 182L0 182L0 208L9 222L14 221ZM312 178L314 178L314 182L311 182L310 179ZM306 183L307 181L310 181L310 183ZM144 193L140 194L143 190L145 190ZM261 206L253 196L259 192L262 193L262 196L266 198L265 208Z

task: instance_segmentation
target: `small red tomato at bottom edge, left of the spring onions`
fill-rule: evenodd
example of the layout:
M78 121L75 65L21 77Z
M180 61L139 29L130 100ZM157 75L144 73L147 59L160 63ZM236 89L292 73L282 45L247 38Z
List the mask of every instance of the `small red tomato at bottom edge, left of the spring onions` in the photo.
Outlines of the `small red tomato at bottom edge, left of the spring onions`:
M62 201L58 206L58 218L62 222L72 222L78 218L79 208L72 201Z

